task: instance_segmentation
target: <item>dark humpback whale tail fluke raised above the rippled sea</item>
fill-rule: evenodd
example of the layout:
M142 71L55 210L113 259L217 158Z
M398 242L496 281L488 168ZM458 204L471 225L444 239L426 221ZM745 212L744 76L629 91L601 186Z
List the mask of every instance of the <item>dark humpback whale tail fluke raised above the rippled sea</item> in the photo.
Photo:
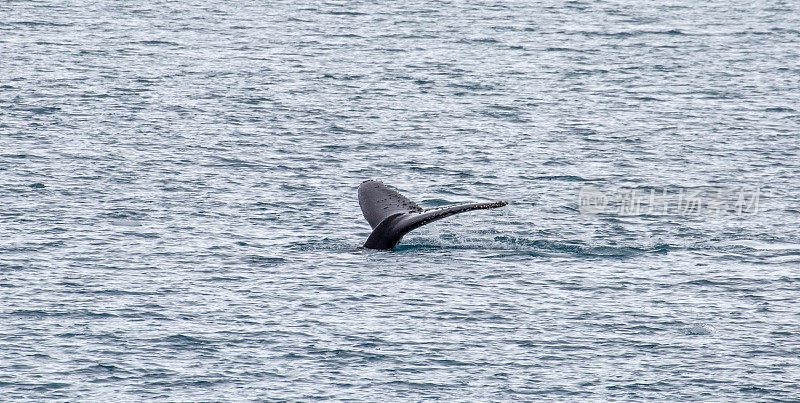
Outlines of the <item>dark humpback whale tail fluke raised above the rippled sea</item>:
M470 203L424 210L416 203L389 189L381 181L367 180L358 186L358 204L372 227L372 234L364 243L369 249L394 249L403 235L453 214L465 211L503 207L508 202Z

